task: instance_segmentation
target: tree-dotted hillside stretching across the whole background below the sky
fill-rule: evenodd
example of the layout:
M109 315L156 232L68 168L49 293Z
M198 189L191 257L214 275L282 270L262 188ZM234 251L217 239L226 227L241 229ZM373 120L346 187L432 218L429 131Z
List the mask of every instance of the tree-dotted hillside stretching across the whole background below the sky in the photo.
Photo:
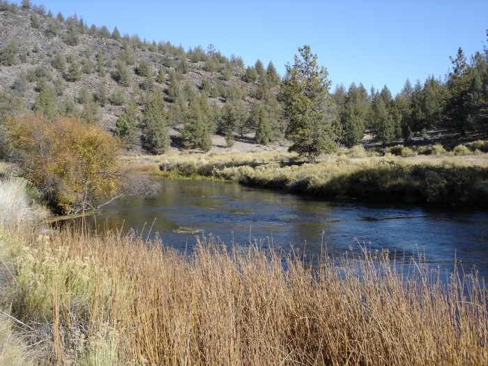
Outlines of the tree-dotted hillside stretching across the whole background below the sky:
M120 137L126 153L152 154L284 150L291 142L295 151L307 146L305 155L358 144L442 143L452 149L488 136L486 48L468 59L459 47L444 79L414 85L407 79L392 96L387 86L368 92L355 83L330 91L317 55L299 47L307 61L296 56L288 71L321 77L319 113L307 120L303 105L294 116L287 109L286 117L284 106L296 96L310 102L306 90L314 88L290 89L293 74L281 79L272 62L246 67L241 57L224 56L213 45L185 50L23 3L0 0L0 124L25 112L49 120L75 116ZM315 138L323 141L307 141Z

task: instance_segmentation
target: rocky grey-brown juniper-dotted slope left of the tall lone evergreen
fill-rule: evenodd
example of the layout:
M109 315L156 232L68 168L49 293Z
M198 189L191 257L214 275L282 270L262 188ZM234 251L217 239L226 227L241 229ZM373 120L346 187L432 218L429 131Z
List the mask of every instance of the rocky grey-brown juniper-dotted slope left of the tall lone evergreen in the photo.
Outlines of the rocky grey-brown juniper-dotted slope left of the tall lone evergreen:
M0 119L19 109L52 118L77 114L113 131L129 100L135 100L141 120L148 94L159 89L167 128L183 128L181 109L204 93L213 110L209 132L219 131L223 106L231 102L237 114L241 108L241 116L232 123L234 134L252 138L248 120L253 103L266 105L275 125L281 123L279 84L272 63L266 69L258 60L245 68L240 57L229 59L211 46L185 52L171 43L150 43L138 36L121 36L117 29L88 26L76 15L65 18L42 6L22 8L0 2ZM55 96L41 96L44 90ZM275 139L280 135L276 133ZM133 145L140 147L137 142Z

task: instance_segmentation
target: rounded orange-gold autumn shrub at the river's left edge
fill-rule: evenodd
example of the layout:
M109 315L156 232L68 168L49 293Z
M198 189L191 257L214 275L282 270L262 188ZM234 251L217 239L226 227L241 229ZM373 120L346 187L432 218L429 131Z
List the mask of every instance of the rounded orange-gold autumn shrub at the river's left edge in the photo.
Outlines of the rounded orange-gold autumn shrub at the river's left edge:
M84 211L119 188L119 143L96 125L82 125L74 118L51 122L25 116L6 119L5 127L17 174L62 213Z

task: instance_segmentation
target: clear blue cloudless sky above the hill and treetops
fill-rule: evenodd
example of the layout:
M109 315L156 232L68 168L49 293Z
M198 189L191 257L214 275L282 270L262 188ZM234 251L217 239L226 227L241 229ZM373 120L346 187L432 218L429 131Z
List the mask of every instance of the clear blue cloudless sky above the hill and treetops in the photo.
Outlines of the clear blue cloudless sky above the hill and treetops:
M22 3L22 0L16 1ZM298 47L310 45L329 79L349 87L443 78L458 47L466 56L487 42L487 0L31 0L54 15L76 13L91 26L189 47L213 44L245 66L273 61L280 75ZM487 45L488 47L488 45Z

